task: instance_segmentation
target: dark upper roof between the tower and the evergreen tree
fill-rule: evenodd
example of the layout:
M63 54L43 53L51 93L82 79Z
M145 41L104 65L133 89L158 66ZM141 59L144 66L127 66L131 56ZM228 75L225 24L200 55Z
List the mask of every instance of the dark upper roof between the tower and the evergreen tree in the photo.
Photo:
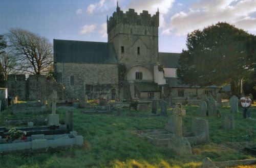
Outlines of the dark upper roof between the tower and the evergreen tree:
M158 53L158 62L163 67L177 68L179 67L180 53Z

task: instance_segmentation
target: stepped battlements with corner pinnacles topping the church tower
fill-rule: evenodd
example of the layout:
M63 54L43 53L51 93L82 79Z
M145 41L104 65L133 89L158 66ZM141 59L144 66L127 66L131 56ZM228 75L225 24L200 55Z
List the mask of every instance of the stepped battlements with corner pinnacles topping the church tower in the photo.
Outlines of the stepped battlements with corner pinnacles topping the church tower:
M113 16L107 20L108 33L115 27L117 23L159 27L159 12L157 11L153 16L148 14L148 11L144 10L139 15L134 9L129 9L129 11L123 13L123 11L121 11L117 6L116 12L114 12Z

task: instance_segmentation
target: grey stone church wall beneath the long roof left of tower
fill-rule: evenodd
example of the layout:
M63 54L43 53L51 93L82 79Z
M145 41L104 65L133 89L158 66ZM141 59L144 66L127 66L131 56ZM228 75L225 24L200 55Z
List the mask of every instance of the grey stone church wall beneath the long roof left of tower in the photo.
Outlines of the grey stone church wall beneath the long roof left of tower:
M68 99L97 99L100 95L111 98L118 93L118 64L55 63L55 79L66 88ZM73 81L71 76L73 76Z

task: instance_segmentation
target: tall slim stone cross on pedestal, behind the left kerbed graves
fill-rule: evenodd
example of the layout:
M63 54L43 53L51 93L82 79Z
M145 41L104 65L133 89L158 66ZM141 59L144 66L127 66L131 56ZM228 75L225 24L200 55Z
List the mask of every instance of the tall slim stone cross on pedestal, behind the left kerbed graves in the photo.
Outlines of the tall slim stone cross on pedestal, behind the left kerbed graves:
M51 94L52 100L52 113L49 115L49 123L48 125L59 125L59 114L56 114L56 101L57 101L57 92L54 90Z

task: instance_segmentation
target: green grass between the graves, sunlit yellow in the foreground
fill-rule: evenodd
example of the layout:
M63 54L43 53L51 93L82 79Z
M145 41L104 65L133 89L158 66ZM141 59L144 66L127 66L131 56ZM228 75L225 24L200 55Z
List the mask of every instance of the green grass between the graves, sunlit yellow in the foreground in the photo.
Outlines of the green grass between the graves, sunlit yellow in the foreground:
M197 116L198 106L183 106L184 125L190 129L191 119ZM168 109L168 115L172 109ZM230 113L229 107L219 108L222 114ZM57 109L65 118L65 109ZM162 129L169 116L152 116L150 111L124 110L122 116L113 114L83 114L73 110L73 127L84 137L84 146L68 148L54 153L15 153L0 156L0 167L200 167L202 160L213 161L253 158L226 146L227 142L254 142L256 123L244 119L241 109L234 114L235 129L221 128L221 118L203 117L209 120L210 143L193 146L193 155L180 157L164 147L155 147L145 139L131 133L137 129ZM8 116L7 114L5 116ZM256 109L251 108L256 118ZM252 166L240 166L253 167ZM255 165L254 165L255 167Z

